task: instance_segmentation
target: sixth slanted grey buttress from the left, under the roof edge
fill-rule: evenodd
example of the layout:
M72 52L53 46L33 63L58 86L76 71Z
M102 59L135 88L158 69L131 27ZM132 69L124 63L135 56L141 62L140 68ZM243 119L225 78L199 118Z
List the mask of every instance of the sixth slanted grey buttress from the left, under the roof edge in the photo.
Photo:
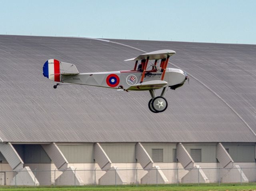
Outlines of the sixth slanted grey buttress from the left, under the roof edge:
M234 163L233 159L230 157L230 155L221 143L218 143L216 146L216 158L218 159L222 167L226 167L228 164L233 165Z

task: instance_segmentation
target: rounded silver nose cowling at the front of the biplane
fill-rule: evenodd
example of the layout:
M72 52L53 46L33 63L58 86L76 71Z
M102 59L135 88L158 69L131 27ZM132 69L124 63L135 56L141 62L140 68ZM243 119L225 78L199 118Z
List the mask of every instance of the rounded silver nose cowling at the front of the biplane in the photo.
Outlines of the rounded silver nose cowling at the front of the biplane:
M182 71L181 69L169 69L169 87L171 89L176 89L178 87L181 87L186 79L188 79L188 75L186 72Z

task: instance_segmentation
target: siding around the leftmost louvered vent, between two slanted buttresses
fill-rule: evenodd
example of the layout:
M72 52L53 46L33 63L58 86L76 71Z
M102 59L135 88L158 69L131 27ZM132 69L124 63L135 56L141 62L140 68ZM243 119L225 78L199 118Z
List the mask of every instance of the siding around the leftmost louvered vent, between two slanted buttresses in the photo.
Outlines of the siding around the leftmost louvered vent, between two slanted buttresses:
M164 160L163 162L172 162L172 149L176 148L175 144L143 144L145 150L152 158L152 149L163 149Z

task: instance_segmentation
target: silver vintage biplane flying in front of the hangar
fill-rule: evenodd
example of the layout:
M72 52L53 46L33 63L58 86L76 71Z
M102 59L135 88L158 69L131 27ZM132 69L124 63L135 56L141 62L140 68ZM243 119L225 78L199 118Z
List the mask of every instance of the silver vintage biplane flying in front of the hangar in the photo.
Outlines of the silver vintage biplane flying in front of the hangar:
M176 52L173 50L158 50L144 53L136 58L125 61L135 61L132 70L79 73L74 64L56 59L44 63L43 75L60 83L73 83L117 89L118 91L149 91L151 99L148 108L154 113L163 112L168 106L166 91L181 87L188 75L181 69L167 68L169 58ZM151 63L151 61L154 62ZM151 63L151 64L150 64ZM162 89L156 96L156 89Z

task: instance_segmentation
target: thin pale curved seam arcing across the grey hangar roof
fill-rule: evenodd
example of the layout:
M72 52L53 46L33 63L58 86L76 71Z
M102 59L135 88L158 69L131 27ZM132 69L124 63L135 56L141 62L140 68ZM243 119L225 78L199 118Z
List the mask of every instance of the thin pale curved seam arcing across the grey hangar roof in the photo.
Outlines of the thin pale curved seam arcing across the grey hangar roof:
M99 39L97 39L99 40ZM115 43L115 44L119 44L119 45L123 45L126 47L130 47L132 49L136 49L139 51L142 51L144 53L147 53L146 51L142 50L142 49L138 49L136 47L130 46L130 45L126 45L123 43L118 43L118 42L114 42L114 41L109 41L110 43ZM172 63L173 66L177 67L178 69L180 69L180 67L176 66L175 64ZM246 126L251 130L251 132L254 134L254 136L256 137L256 133L252 130L252 128L246 123L246 121L224 100L222 99L216 92L214 92L212 89L210 89L210 87L208 87L207 85L205 85L202 81L200 81L198 78L194 77L193 75L189 74L188 75L192 78L194 78L196 81L198 81L200 84L202 84L204 87L206 87L208 90L210 90L214 95L216 95L220 100L222 100L239 118L240 120L242 120L242 122L244 122L244 124L246 124Z

